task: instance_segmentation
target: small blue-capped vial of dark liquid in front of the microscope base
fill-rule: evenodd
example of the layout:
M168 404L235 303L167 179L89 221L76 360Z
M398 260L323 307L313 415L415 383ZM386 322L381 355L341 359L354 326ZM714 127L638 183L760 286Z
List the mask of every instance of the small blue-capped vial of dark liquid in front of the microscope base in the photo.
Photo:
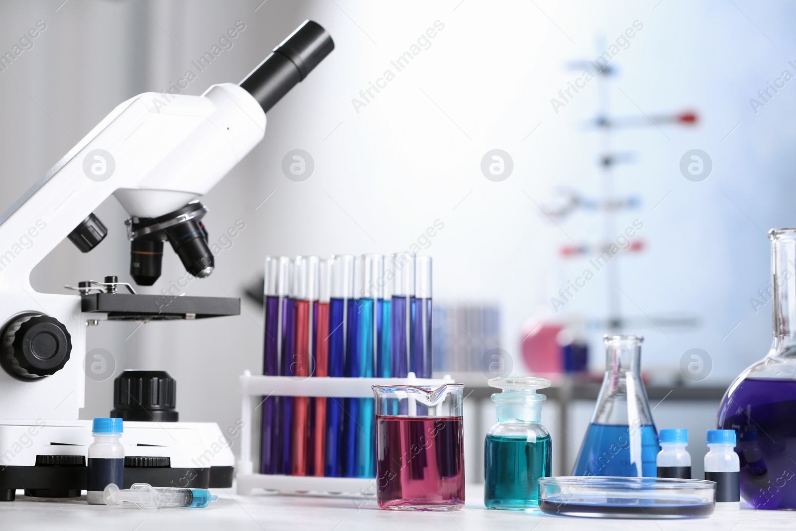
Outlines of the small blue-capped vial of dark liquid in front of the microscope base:
M94 442L88 447L88 503L103 506L106 486L111 483L119 488L124 486L124 447L119 443L122 432L121 419L94 419Z

